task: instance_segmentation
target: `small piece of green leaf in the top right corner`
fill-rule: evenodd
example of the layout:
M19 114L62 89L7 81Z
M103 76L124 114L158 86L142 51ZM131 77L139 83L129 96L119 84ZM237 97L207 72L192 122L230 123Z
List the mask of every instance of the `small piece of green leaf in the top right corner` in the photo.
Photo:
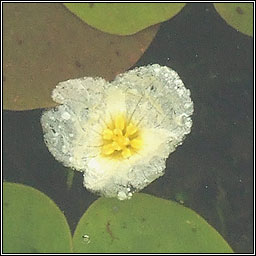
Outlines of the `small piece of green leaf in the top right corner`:
M230 26L253 36L253 3L214 3L214 7Z

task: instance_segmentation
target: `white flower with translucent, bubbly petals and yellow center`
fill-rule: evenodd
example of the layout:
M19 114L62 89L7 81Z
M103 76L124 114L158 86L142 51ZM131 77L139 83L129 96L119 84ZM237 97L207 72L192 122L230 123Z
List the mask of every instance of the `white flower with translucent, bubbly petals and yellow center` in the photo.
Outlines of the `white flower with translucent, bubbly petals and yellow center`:
M164 174L168 155L192 126L190 91L175 71L157 64L111 83L61 82L52 98L61 105L41 118L49 151L82 171L87 189L121 200Z

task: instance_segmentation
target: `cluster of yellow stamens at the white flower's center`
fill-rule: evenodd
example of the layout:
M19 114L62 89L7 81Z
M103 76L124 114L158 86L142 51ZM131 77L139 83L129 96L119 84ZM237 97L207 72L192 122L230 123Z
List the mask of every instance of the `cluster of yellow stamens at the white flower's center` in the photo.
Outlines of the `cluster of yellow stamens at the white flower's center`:
M129 158L142 147L139 130L124 115L116 116L102 132L102 155L112 158Z

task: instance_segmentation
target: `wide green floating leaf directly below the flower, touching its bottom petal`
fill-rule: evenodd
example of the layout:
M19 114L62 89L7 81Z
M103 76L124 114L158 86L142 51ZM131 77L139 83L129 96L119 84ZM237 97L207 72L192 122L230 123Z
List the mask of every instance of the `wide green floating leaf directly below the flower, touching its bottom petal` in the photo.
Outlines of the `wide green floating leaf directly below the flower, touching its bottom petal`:
M95 201L78 223L73 246L77 253L232 252L194 211L142 193L128 201Z

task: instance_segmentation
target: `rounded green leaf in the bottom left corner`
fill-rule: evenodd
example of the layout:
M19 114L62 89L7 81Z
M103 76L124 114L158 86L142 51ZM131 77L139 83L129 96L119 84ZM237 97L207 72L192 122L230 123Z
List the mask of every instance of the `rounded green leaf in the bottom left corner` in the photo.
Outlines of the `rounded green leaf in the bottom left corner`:
M67 253L71 248L66 218L50 198L32 187L4 182L4 253Z

